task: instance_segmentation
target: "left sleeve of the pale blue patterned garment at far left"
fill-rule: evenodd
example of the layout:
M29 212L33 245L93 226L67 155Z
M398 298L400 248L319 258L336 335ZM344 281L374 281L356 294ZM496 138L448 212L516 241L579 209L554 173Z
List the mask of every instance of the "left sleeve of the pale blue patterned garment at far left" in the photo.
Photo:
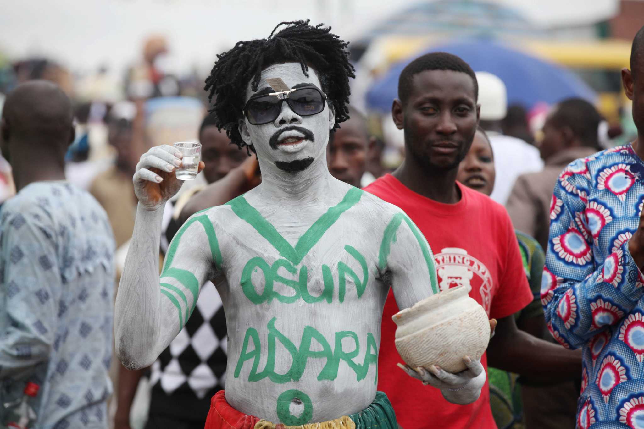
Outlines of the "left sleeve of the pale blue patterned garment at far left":
M3 210L0 224L0 379L23 378L50 357L58 324L61 273L48 214ZM32 213L31 210L39 210ZM49 237L49 238L48 238Z

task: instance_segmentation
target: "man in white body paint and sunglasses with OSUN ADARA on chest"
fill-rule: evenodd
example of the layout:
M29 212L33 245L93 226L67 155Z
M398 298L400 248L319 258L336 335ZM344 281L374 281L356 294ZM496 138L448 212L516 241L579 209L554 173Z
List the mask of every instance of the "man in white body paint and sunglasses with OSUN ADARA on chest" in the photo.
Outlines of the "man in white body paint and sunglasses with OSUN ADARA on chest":
M206 81L218 125L257 153L261 184L194 214L175 235L160 280L160 221L181 186L173 173L180 154L164 145L142 157L117 297L118 356L129 369L150 365L212 280L229 361L206 428L397 428L376 391L384 300L390 286L401 309L436 292L433 257L399 208L328 172L329 132L347 118L353 77L346 43L308 21L287 24L220 55ZM414 375L448 401L471 403L485 372L464 361L459 374L432 367Z

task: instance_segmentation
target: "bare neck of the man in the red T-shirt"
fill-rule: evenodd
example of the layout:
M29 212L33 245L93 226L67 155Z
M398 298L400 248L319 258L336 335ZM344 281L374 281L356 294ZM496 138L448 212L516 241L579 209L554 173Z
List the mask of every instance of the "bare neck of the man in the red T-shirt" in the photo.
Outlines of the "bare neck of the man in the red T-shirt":
M451 170L434 170L434 172L437 174L432 174L426 166L419 165L412 156L408 156L392 174L416 194L438 203L458 203L460 201L460 191L456 185L458 165Z

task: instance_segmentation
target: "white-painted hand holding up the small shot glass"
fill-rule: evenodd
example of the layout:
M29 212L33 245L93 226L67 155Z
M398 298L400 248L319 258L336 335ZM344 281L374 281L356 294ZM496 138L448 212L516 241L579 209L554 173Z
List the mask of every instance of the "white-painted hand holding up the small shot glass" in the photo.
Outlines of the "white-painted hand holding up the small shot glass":
M170 145L155 146L141 156L132 178L138 202L146 210L158 210L179 192L183 181L175 176L182 165L182 154ZM204 169L199 163L199 171Z

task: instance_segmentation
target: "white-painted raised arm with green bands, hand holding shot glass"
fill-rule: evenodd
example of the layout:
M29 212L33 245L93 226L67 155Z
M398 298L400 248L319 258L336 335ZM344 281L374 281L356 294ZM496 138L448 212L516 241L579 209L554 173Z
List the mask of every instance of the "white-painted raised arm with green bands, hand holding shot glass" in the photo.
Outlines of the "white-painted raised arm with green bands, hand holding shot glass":
M128 369L156 360L182 329L201 286L214 274L209 242L214 227L207 215L198 214L176 233L159 279L163 210L182 185L174 174L175 165L180 165L176 153L168 145L153 147L141 157L133 178L137 219L115 306L117 355Z

